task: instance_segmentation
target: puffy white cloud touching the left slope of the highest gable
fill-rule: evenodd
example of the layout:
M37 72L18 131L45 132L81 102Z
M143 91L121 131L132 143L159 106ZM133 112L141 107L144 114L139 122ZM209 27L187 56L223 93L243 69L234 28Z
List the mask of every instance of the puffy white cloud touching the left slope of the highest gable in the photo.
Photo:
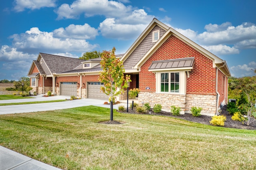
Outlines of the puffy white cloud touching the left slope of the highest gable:
M147 25L116 24L114 18L107 18L100 23L100 33L107 38L132 39L144 30Z

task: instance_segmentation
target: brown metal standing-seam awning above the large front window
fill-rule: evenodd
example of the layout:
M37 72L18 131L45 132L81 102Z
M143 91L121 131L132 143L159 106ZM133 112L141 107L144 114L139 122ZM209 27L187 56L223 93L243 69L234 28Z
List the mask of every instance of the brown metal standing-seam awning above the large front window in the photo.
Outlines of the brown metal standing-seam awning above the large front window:
M191 70L193 65L194 57L186 57L182 59L152 61L152 64L149 66L148 70Z

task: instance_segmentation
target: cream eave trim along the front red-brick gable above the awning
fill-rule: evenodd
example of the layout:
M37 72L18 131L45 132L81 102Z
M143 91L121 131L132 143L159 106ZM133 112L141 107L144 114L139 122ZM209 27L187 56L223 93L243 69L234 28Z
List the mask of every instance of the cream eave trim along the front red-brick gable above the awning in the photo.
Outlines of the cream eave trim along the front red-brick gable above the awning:
M200 45L196 44L194 41L191 41L190 39L188 39L187 37L185 37L184 35L182 35L181 33L179 33L178 31L176 31L173 28L169 28L164 35L162 35L162 37L152 46L152 48L142 57L142 59L140 59L140 61L138 61L138 63L134 66L134 69L139 69L140 66L142 66L142 64L144 64L149 57L171 36L174 35L175 37L177 37L178 39L180 39L181 41L183 41L184 43L188 44L190 47L196 49L198 52L202 53L203 55L205 55L206 57L208 57L210 60L212 60L214 62L214 64L222 64L225 63L225 61L223 61L222 59L220 59L219 57L217 57L216 55L210 53L209 51L207 51L206 49L204 49L203 47L201 47Z

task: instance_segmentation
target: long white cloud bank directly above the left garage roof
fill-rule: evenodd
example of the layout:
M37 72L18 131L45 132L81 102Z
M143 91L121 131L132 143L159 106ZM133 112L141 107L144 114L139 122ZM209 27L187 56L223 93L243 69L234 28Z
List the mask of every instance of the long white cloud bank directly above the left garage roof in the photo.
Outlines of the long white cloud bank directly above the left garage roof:
M38 53L40 51L54 52L84 52L91 51L98 45L91 45L82 39L58 39L53 37L52 32L40 31L38 27L33 27L26 33L14 34L12 45L18 51L27 53Z

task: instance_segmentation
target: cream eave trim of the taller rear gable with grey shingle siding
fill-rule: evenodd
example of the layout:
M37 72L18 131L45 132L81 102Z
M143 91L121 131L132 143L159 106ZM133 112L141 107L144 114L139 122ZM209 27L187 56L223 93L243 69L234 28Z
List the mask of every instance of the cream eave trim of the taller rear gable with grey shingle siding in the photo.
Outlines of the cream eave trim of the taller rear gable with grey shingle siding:
M140 34L140 36L136 39L136 41L132 44L132 46L126 51L126 53L122 56L122 58L120 59L120 61L125 61L130 54L136 49L136 47L138 47L138 45L143 41L143 39L148 35L148 33L150 33L150 31L156 26L158 25L159 27L161 27L162 29L164 29L165 31L167 31L169 29L169 27L167 25L165 25L164 23L158 21L156 18L154 18L151 23L146 27L146 29L144 29L144 31Z

